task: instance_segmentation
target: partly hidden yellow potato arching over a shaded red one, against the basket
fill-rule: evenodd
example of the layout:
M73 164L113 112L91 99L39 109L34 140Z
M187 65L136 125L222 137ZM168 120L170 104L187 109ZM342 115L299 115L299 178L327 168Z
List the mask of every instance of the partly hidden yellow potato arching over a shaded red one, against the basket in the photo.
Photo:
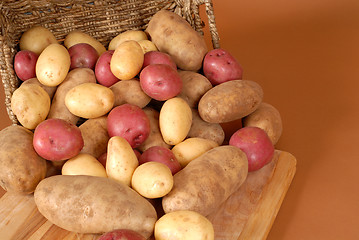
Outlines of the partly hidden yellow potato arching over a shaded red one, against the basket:
M64 41L64 45L67 49L78 43L90 44L93 48L96 49L99 56L106 52L106 48L102 45L102 43L86 33L75 30L67 34Z

